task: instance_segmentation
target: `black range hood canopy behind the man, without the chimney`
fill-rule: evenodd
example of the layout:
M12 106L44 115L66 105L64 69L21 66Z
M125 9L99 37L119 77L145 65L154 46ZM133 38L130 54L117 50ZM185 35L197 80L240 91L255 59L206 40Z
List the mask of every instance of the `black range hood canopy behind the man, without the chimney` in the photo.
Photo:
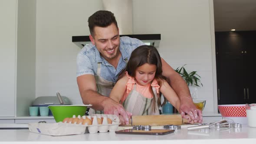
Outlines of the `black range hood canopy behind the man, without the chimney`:
M159 47L161 34L139 34L139 35L120 35L121 36L129 36L131 38L140 39L143 43L147 45L151 45L154 47ZM89 36L72 36L72 42L79 46L81 49L90 44L91 41Z

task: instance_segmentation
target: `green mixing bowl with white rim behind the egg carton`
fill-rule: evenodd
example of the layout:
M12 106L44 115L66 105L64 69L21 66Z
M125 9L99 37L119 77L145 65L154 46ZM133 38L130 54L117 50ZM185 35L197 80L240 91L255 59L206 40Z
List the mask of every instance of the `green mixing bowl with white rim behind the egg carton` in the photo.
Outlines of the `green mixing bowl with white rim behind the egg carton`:
M88 106L92 105L49 105L56 122L63 121L64 118L72 118L73 115L85 115Z

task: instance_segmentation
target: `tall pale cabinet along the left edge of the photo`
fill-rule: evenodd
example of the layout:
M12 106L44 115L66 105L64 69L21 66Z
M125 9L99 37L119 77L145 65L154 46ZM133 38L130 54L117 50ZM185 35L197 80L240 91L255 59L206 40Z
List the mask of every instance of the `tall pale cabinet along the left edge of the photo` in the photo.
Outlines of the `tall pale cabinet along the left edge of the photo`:
M0 18L0 119L29 116L35 99L36 1L0 0Z

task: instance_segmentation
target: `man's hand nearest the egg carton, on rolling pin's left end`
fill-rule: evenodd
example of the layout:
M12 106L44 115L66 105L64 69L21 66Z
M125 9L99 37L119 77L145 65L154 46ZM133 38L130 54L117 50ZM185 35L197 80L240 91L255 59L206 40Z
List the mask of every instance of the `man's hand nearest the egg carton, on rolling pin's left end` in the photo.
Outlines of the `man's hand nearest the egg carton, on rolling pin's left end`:
M118 116L122 125L129 124L129 119L131 118L131 113L125 111L123 105L111 98L104 101L104 114Z

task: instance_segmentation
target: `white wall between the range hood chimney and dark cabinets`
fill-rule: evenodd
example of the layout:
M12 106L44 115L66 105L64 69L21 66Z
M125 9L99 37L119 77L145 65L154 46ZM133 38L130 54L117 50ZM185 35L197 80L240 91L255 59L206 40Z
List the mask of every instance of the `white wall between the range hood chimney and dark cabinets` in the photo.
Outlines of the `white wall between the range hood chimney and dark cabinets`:
M161 56L174 69L198 71L203 112L214 111L209 0L133 0L133 33L161 33Z

